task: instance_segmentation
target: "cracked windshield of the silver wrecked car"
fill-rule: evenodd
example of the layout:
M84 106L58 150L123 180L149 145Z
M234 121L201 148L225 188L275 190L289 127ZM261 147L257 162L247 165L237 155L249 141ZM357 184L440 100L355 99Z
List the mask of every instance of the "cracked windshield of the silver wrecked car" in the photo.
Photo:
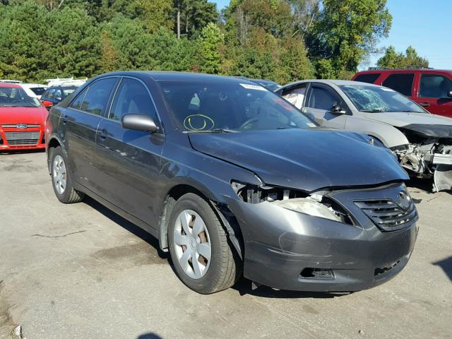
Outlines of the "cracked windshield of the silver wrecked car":
M367 85L340 85L339 87L361 112L427 113L408 97L390 88Z

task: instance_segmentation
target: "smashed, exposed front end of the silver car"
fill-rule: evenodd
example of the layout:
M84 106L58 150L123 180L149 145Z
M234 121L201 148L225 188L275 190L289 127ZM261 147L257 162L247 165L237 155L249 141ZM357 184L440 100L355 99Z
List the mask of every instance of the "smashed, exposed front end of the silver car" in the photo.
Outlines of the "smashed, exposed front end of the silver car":
M433 178L433 191L452 189L452 126L417 125L398 127L410 142L391 148L410 175ZM445 128L447 127L447 129Z

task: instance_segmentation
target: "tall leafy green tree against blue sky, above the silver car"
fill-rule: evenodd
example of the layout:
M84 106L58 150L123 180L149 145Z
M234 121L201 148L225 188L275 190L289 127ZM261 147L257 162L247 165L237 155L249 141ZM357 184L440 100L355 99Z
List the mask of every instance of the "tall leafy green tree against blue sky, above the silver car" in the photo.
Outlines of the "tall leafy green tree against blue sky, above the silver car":
M388 35L392 16L386 0L323 0L322 4L307 35L317 76L337 78L353 73L376 42Z

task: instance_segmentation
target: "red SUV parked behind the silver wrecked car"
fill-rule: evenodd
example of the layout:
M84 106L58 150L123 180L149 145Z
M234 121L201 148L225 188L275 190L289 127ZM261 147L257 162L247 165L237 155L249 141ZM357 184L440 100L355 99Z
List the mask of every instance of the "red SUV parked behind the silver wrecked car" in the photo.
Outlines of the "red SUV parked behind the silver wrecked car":
M452 71L371 68L356 73L352 80L392 88L429 112L452 118Z

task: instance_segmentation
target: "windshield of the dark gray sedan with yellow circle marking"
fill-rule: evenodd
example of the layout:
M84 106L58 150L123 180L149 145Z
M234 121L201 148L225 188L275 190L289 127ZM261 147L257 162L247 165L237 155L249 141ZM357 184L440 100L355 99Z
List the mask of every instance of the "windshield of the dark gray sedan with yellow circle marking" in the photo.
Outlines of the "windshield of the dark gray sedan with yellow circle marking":
M316 124L278 95L251 83L159 81L182 131L309 129Z

